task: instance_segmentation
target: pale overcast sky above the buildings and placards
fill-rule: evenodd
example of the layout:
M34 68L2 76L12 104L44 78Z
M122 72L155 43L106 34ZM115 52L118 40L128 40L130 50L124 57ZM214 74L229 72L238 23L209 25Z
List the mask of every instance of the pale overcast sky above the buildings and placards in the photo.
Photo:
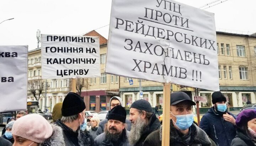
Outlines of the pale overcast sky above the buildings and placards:
M256 32L256 0L177 1L197 8L217 1L214 3L217 5L205 9L215 13L217 31L232 30L233 33L243 34ZM224 2L218 4L221 1ZM36 49L37 29L40 29L41 34L74 36L96 29L108 39L111 2L111 0L1 1L0 23L9 18L14 19L0 24L0 45L28 45L28 50Z

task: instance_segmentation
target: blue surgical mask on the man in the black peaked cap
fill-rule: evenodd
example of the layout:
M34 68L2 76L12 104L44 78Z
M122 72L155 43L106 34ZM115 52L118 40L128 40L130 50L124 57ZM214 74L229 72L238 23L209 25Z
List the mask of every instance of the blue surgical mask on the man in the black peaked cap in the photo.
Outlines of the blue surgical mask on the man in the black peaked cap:
M170 111L171 113L171 111ZM172 114L172 113L171 113ZM174 115L174 114L172 114ZM187 114L187 115L174 115L176 117L176 122L175 125L178 127L180 130L186 130L190 128L190 126L193 124L194 121L194 114Z

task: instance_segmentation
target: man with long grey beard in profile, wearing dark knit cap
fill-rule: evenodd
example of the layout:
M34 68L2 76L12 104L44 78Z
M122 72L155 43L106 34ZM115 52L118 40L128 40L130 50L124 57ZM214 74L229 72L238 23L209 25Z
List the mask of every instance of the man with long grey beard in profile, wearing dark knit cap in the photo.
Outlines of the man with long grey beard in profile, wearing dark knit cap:
M142 146L146 137L161 126L150 103L144 99L132 103L129 120L132 128L128 140L134 146Z

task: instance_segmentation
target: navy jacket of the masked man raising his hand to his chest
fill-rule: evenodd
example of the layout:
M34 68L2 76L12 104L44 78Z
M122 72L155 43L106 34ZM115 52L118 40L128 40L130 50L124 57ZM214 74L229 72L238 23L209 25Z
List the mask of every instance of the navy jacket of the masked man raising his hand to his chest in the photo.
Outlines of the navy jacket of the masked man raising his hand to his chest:
M227 113L235 118L233 114ZM206 132L217 146L230 146L236 135L236 127L225 121L222 115L215 112L214 107L203 115L199 127Z

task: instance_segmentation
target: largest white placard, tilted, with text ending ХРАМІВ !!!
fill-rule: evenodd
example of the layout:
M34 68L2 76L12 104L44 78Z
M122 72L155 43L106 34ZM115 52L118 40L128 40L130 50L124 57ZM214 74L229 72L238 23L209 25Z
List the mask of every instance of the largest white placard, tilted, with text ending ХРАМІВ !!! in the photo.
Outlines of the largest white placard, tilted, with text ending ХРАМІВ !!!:
M218 91L214 14L172 0L113 0L106 72Z

